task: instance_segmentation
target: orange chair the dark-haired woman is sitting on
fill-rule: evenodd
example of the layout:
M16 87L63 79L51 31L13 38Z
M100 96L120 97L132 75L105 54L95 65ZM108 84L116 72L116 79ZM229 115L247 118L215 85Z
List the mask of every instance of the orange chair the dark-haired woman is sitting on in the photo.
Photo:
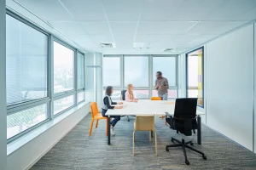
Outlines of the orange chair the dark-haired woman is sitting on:
M100 119L105 119L106 120L106 135L108 136L108 117L104 117L104 116L102 116L102 113L99 113L96 102L92 102L90 104L90 112L91 112L92 119L91 119L91 122L90 122L89 136L92 133L92 127L93 127L94 120L96 120L96 126L95 127L98 127L98 122L99 122Z

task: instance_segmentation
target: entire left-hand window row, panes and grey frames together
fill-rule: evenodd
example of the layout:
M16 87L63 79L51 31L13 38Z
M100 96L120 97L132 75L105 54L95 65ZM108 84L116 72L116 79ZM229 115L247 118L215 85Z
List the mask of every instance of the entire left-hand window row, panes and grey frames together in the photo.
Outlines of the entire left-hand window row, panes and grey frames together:
M7 10L8 143L84 101L84 54L49 37L49 32Z

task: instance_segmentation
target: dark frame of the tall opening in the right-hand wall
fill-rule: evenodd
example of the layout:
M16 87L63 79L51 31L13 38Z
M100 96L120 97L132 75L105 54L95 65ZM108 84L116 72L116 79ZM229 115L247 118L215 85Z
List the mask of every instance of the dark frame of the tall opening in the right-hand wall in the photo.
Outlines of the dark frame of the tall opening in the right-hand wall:
M199 105L197 103L197 106L201 107L201 108L204 108L204 105L205 105L205 96L204 96L204 86L205 86L205 83L204 83L204 74L205 74L205 65L204 65L204 57L205 57L205 49L204 49L204 46L201 46L200 48L195 48L193 49L192 51L189 51L188 53L185 54L185 69L186 69L186 97L188 98L188 94L189 94L189 89L197 89L198 88L195 88L195 87L192 87L192 88L189 88L189 69L188 69L188 56L189 54L197 51L197 50L202 50L202 57L201 57L201 66L202 66L202 77L201 77L201 94L202 94L202 105Z

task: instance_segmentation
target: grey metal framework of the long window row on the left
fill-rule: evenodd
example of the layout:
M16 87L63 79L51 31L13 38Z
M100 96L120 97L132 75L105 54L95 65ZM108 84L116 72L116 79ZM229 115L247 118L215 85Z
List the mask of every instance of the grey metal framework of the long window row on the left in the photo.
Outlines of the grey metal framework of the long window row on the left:
M52 33L49 31L44 30L43 28L40 28L33 24L32 22L22 18L20 15L15 14L14 12L10 11L9 9L6 10L6 15L9 15L10 17L13 17L15 20L20 21L21 23L25 24L26 26L32 27L32 29L35 29L36 31L39 31L47 36L47 97L40 98L40 99L28 99L26 101L22 101L19 103L13 103L10 105L7 105L7 115L12 115L15 113L18 113L20 111L26 111L28 109L31 109L33 107L37 107L39 105L46 105L46 119L43 122L38 122L38 124L27 128L26 130L17 133L15 136L7 139L7 144L14 142L16 139L19 139L20 137L26 135L26 133L32 132L38 127L41 127L44 123L49 122L50 120L54 119L56 116L60 116L62 113L72 109L74 106L79 105L85 101L85 93L84 93L84 100L80 101L78 103L78 94L81 92L85 92L85 57L84 57L84 88L78 89L78 65L77 65L77 55L83 54L79 49L73 48L73 46L69 45L67 42L61 40L58 37L55 37ZM68 90L61 93L54 94L54 42L60 43L62 46L66 48L70 48L73 50L73 89ZM84 51L85 52L85 51ZM56 99L62 99L65 97L68 97L70 95L73 95L73 103L71 107L68 107L67 109L57 113L54 115L54 101Z

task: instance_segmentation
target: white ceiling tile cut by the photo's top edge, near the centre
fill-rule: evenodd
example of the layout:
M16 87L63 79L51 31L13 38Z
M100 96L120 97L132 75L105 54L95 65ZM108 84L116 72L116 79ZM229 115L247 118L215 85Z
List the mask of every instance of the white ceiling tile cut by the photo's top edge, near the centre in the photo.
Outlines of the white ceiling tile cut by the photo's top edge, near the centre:
M109 21L137 21L143 7L143 0L104 0Z

